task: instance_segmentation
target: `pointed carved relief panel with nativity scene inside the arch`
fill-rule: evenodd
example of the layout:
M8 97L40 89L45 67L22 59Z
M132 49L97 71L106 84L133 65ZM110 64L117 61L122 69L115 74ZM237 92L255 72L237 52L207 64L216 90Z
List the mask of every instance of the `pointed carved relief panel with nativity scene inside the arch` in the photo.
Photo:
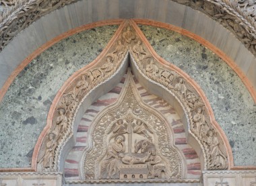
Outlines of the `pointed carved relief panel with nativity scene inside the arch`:
M131 73L121 97L92 122L85 179L183 179L185 162L158 111L144 104Z

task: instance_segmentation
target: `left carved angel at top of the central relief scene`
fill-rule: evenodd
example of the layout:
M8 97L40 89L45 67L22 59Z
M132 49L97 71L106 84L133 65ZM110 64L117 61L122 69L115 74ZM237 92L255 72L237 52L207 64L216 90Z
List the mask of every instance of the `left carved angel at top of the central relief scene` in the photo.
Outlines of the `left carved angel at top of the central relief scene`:
M108 134L113 132L113 134L109 137L109 141L119 135L129 133L127 127L127 124L125 124L123 120L117 120L117 122L113 124L112 128L110 128L110 130L108 131Z

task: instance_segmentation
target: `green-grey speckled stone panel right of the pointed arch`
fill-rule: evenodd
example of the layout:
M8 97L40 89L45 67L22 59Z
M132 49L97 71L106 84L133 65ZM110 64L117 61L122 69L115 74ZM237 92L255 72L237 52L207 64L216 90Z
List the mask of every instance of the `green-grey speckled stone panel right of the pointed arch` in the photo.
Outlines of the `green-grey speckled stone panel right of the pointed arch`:
M211 50L186 36L139 27L162 58L185 71L203 89L228 137L234 165L256 165L256 105L236 73Z

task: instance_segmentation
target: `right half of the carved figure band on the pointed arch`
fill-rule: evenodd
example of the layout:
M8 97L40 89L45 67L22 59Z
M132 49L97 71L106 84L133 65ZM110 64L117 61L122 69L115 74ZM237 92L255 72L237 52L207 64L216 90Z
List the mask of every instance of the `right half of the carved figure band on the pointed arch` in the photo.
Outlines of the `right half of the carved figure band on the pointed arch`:
M132 48L137 48L138 43L140 43L139 39L134 42ZM175 71L166 70L153 58L144 44L139 45L141 45L140 48L143 48L143 50L139 50L140 52L130 50L135 58L137 68L148 79L164 85L183 103L189 115L191 132L205 149L207 169L227 169L228 160L224 143L214 126L212 126L201 97L181 75Z

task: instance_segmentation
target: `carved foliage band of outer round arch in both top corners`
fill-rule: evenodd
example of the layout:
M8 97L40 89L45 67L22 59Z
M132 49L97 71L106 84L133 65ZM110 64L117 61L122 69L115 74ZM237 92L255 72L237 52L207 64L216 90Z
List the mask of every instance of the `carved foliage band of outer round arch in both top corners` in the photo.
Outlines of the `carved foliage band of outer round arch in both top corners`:
M77 0L31 0L18 1L14 8L9 9L0 18L0 50L11 41L21 30L49 13ZM228 28L245 46L256 55L256 24L255 1L253 0L172 0L206 13L222 26ZM14 1L3 1L13 5Z

